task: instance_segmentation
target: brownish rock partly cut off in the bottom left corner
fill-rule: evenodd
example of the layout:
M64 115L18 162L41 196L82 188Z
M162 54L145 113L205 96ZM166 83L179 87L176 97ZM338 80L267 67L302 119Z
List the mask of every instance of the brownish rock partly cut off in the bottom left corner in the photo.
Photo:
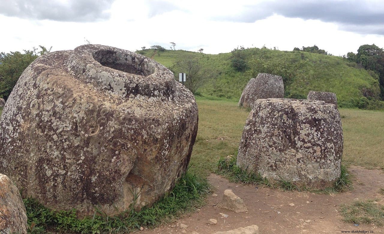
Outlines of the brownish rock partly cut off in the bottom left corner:
M19 190L4 174L0 174L0 233L26 234L27 218Z

